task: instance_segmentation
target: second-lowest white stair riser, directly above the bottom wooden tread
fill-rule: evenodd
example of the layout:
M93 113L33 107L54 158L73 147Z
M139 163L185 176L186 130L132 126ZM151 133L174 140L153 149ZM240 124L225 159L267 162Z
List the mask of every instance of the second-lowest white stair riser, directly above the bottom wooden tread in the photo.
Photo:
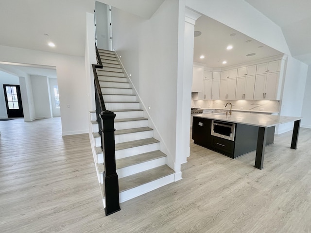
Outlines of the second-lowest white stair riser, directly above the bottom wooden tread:
M138 172L142 172L142 171L146 171L148 169L155 168L157 166L165 165L165 161L166 161L165 159L166 159L165 157L162 157L162 158L146 161L144 163L135 164L132 166L127 166L127 167L117 169L118 177L120 179L120 178L123 178L125 176L130 176L130 175L136 174Z

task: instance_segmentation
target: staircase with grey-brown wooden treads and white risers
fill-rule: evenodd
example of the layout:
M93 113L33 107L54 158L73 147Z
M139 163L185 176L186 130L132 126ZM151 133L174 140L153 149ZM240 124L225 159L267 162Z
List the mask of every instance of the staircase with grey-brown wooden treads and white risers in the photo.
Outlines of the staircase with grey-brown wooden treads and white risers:
M115 149L120 203L174 181L174 170L167 166L167 155L148 127L148 119L137 100L129 79L113 51L99 50L103 68L97 69L106 109L116 114ZM104 155L96 113L91 112L94 161L103 184ZM100 185L103 188L103 185ZM102 189L104 201L104 192ZM104 202L105 203L105 202Z

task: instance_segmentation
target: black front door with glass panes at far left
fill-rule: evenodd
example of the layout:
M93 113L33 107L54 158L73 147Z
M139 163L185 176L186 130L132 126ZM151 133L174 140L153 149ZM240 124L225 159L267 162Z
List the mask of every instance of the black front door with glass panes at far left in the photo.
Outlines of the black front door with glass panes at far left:
M23 117L24 114L19 85L3 84L3 88L8 118Z

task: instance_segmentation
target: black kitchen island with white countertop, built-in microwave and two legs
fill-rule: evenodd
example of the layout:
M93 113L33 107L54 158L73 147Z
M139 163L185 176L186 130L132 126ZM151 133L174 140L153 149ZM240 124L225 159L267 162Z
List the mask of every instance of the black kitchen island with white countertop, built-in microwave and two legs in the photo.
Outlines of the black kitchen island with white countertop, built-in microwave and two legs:
M301 117L237 112L232 115L198 114L193 115L192 139L195 144L231 158L256 150L255 167L263 169L265 147L274 141L275 126L294 121L290 148L297 149L300 119ZM225 126L230 126L231 132L225 132L228 131Z

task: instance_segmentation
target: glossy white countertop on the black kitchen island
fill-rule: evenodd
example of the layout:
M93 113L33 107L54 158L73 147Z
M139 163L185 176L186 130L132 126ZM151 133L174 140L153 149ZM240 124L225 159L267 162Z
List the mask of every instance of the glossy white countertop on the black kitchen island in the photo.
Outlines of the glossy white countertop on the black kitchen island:
M206 113L206 114L195 114L193 116L212 120L222 120L232 123L259 126L264 128L301 119L301 117L294 117L294 116L274 116L274 115L241 113L241 112L240 113L233 112L232 115L229 114L225 115L225 113Z

